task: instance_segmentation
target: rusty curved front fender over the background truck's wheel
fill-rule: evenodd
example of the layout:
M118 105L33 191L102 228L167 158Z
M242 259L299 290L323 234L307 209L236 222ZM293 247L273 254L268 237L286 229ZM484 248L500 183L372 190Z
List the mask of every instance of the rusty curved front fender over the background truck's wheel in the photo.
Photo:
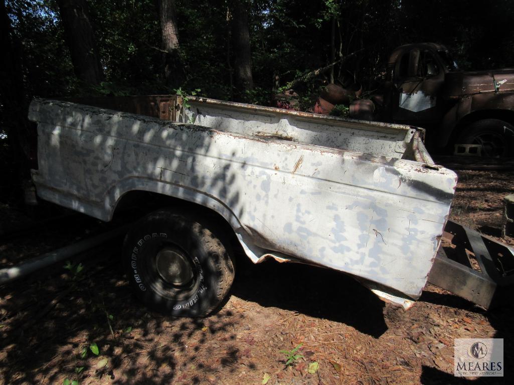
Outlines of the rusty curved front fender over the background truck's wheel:
M512 121L514 93L477 93L458 101L444 116L439 128L437 147L445 147L458 130L479 119L496 118Z

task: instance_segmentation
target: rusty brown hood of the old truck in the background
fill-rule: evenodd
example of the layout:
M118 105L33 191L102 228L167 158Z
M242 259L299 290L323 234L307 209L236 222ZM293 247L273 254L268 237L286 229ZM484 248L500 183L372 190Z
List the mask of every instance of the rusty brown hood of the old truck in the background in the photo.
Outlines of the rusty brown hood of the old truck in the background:
M514 68L448 72L445 87L446 93L450 96L481 92L512 92L514 91Z

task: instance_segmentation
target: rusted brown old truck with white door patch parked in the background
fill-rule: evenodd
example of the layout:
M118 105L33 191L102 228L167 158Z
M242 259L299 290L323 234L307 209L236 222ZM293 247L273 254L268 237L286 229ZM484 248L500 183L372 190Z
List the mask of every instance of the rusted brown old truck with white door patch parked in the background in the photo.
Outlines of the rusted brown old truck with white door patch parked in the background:
M383 121L427 128L433 148L488 157L514 156L514 69L465 72L448 49L400 46L387 68Z

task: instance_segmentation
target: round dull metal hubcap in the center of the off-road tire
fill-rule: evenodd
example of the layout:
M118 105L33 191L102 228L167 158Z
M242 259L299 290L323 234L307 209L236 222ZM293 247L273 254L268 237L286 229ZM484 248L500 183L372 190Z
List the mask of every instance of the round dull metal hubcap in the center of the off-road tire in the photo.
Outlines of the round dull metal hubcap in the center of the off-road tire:
M193 269L188 257L175 247L164 247L155 257L157 272L161 278L172 284L182 286L193 278Z

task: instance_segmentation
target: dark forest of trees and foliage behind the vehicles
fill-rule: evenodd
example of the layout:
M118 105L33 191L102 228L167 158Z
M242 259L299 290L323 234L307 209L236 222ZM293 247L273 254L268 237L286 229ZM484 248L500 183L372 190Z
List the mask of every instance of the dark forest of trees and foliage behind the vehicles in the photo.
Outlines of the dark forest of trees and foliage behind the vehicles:
M350 77L373 89L401 44L442 43L463 69L514 63L509 0L2 0L0 8L0 167L9 164L13 178L29 168L34 97L199 89L268 105L337 63L295 82L306 109L326 83Z

